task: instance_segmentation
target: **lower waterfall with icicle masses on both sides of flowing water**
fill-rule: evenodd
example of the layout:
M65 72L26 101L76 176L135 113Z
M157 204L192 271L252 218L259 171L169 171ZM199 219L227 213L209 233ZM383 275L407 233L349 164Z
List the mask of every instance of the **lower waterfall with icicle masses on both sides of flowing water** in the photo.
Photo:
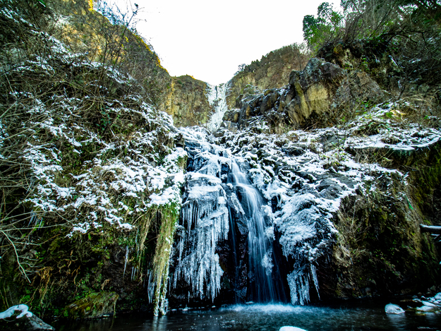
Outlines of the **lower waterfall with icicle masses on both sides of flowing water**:
M316 258L331 238L315 197L270 203L250 183L245 159L209 143L203 128L181 132L189 158L172 295L196 304L219 293L222 303L288 302L289 289L291 303L308 303L310 287L318 289Z

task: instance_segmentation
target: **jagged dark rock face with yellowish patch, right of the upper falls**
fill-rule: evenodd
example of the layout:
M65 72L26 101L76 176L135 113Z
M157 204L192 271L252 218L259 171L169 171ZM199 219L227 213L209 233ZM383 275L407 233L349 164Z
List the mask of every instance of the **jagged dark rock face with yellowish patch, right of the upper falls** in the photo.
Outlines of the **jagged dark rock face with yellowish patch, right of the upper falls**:
M238 102L239 109L228 112L226 121L246 126L253 116L270 119L273 126L327 126L342 109L354 109L357 103L380 102L385 92L362 72L350 73L322 59L310 59L303 71L292 71L289 85L250 95Z

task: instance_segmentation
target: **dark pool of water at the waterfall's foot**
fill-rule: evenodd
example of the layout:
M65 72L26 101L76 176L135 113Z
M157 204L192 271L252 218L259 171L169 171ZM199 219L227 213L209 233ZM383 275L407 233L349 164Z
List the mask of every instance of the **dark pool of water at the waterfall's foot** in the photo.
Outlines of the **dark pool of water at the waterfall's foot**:
M387 315L385 304L365 301L334 306L290 306L248 304L210 309L171 311L155 318L121 315L78 323L54 322L59 331L167 331L167 330L274 330L282 326L304 330L441 330L441 314ZM405 303L399 303L406 308Z

